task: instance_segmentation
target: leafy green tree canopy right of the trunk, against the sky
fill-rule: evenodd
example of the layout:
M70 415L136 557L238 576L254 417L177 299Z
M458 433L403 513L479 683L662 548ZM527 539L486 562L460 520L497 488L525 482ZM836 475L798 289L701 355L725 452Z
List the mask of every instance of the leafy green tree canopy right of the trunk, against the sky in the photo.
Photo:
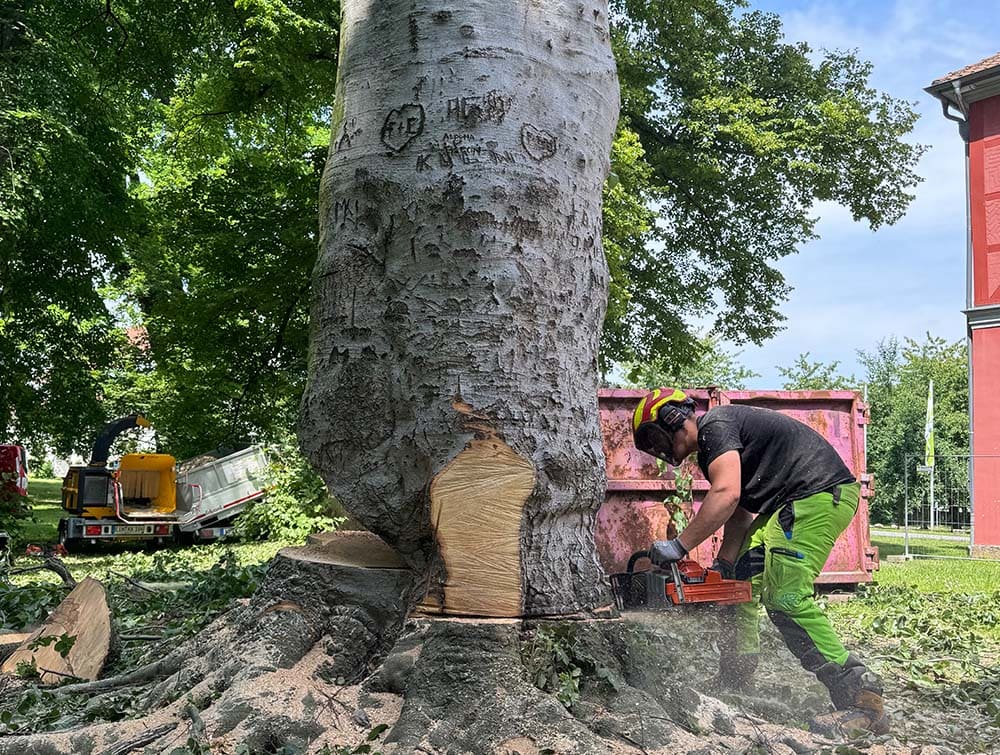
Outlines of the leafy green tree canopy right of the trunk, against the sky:
M641 161L627 190L652 217L614 247L627 254L612 265L606 358L689 361L692 316L734 343L761 343L788 293L773 263L815 237L818 201L874 229L913 198L923 148L904 140L912 107L872 88L855 54L814 56L785 41L776 15L746 8L612 2L621 129L638 140L615 166Z

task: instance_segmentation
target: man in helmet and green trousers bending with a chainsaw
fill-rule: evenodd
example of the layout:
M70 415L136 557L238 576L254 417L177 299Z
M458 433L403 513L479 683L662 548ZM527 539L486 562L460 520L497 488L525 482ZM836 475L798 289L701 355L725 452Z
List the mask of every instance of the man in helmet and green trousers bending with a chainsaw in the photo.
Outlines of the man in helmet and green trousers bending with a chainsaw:
M656 566L680 561L723 528L714 569L748 579L753 600L737 608L720 643L717 677L746 686L760 652L759 604L803 668L830 691L836 713L817 729L887 730L882 684L833 631L813 598L837 536L858 508L860 485L837 451L808 425L770 409L728 405L695 416L683 391L660 388L639 402L633 438L640 451L677 466L697 452L710 488L698 513L672 540L650 549Z

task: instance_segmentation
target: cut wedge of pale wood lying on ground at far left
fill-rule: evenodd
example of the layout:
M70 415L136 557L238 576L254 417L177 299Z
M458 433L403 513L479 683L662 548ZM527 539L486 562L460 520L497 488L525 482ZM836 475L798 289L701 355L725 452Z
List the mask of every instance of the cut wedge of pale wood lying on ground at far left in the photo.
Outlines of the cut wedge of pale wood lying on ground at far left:
M53 645L29 649L31 643L39 637L59 637L62 634L76 636L76 642L66 658L60 656ZM108 609L107 595L100 582L88 577L66 596L44 624L25 638L20 647L4 661L0 672L12 674L17 670L18 663L30 662L34 658L39 669L54 672L42 673L43 684L55 684L66 676L96 679L110 648L111 612Z

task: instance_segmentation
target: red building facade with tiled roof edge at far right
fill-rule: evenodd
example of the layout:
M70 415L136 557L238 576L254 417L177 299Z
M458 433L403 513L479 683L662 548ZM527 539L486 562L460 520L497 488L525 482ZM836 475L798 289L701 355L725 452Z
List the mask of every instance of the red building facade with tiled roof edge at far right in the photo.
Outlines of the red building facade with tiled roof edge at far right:
M973 555L1000 557L1000 53L938 79L965 140Z

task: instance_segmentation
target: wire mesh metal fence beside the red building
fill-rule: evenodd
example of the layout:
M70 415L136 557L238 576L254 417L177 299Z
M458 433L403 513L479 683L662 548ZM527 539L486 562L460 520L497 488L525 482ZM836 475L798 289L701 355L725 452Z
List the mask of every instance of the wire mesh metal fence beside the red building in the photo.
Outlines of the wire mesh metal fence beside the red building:
M883 540L881 550L907 558L970 558L973 465L1000 464L1000 456L941 454L933 466L924 461L923 454L905 458L902 527L873 525L872 537Z

